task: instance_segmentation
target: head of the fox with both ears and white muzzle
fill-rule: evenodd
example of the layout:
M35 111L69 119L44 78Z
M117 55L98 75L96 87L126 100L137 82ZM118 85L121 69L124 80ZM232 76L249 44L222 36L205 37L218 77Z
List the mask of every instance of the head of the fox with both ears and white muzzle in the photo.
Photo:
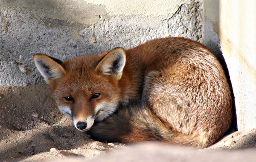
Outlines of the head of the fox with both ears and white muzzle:
M116 111L121 90L119 80L125 66L125 50L115 48L97 56L60 61L44 54L33 56L58 109L73 119L79 131Z

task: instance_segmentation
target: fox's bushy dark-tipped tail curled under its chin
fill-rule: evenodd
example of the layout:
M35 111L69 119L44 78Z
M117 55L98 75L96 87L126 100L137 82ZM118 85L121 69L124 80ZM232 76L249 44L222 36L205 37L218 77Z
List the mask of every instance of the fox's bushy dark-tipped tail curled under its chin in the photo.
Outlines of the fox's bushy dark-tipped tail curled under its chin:
M167 124L166 124L167 125ZM87 131L91 138L103 142L163 141L178 145L206 147L195 135L175 132L156 117L140 101L119 105L117 112L106 120L94 123Z

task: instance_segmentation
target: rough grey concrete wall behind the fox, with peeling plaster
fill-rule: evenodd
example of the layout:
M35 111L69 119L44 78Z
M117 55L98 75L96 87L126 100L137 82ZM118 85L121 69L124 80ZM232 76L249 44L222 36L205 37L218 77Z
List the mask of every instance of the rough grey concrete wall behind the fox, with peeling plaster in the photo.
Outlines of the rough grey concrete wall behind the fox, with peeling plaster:
M195 0L0 0L0 86L45 84L35 53L63 60L166 36L202 42L200 6Z

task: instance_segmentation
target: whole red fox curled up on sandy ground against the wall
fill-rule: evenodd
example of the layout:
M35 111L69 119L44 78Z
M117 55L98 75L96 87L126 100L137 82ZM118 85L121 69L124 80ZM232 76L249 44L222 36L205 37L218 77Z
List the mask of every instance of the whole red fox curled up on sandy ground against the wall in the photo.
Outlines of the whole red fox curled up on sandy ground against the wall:
M60 111L96 140L205 148L231 124L224 70L190 39L155 39L63 62L43 54L33 59Z

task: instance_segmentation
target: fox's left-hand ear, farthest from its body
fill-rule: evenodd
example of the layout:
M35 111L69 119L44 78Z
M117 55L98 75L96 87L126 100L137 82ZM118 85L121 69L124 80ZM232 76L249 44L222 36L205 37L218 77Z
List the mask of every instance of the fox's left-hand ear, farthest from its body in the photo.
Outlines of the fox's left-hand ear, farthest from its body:
M58 59L54 59L44 54L35 54L33 59L35 61L35 66L50 86L53 84L54 80L61 78L66 74L66 71L61 66L61 61Z

